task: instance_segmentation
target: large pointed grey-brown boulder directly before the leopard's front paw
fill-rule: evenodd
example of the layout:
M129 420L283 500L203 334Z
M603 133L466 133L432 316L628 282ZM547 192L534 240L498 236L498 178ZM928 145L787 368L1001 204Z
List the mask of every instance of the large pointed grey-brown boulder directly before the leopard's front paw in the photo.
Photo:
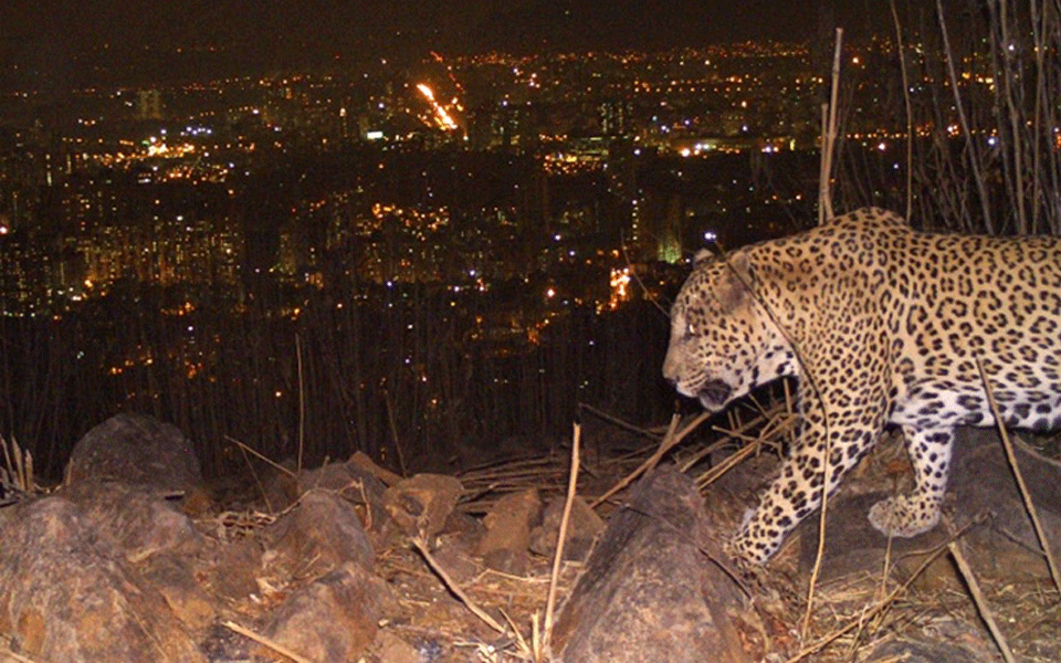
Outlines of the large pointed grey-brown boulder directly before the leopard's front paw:
M692 480L673 467L648 474L593 549L553 651L565 663L749 661L727 614L740 592L702 551L714 548L710 528Z

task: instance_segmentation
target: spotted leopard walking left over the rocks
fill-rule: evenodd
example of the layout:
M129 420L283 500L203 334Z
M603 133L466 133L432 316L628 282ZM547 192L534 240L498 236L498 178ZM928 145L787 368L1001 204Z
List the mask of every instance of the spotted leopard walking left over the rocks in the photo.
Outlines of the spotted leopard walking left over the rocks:
M913 537L941 519L957 427L1061 423L1061 239L913 229L880 208L728 253L702 250L670 312L663 377L717 412L796 382L779 474L728 540L765 564L883 434L913 487L871 525ZM997 415L996 415L997 413Z

